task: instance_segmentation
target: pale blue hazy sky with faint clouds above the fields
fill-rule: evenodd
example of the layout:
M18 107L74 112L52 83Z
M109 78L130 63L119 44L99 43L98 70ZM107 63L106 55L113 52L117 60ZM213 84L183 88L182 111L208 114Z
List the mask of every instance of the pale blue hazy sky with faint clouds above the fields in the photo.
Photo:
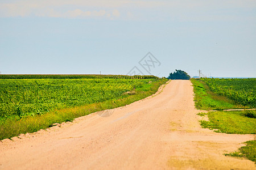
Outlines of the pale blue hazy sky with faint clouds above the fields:
M256 0L1 0L1 74L256 77Z

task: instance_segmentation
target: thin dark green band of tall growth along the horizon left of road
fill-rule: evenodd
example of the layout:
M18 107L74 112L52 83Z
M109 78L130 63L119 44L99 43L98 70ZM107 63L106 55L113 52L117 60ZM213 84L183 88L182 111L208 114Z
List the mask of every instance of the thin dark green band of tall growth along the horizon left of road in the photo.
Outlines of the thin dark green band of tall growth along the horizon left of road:
M100 74L1 74L0 79L159 79L154 75L100 75Z

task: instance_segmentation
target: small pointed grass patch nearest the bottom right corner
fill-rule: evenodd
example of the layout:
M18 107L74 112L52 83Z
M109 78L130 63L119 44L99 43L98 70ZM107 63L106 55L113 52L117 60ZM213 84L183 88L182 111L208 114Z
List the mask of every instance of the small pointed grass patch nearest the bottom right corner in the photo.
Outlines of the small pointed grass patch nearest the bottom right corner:
M246 146L242 146L241 148L239 148L239 151L224 155L247 158L256 163L256 141L247 141L245 143Z

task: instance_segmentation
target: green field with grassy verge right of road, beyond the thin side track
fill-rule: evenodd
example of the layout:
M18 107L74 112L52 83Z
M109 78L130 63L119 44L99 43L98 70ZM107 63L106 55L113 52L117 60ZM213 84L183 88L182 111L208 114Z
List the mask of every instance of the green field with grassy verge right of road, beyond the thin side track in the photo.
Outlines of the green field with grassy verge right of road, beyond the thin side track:
M191 79L197 109L255 108L256 79Z

